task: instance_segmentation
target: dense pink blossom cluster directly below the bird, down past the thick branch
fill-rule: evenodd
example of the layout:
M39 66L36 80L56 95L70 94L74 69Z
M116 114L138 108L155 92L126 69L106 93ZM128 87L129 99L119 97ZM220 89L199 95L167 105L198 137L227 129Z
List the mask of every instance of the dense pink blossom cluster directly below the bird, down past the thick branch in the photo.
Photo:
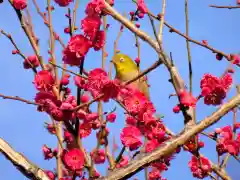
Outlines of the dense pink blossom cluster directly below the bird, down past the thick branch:
M118 99L128 112L126 127L123 128L120 139L130 151L143 145L143 137L147 139L143 147L145 152L152 152L171 138L166 135L166 128L161 120L154 116L156 110L144 94L127 86L121 89ZM149 179L162 179L161 172L168 169L171 159L172 155L152 163Z

